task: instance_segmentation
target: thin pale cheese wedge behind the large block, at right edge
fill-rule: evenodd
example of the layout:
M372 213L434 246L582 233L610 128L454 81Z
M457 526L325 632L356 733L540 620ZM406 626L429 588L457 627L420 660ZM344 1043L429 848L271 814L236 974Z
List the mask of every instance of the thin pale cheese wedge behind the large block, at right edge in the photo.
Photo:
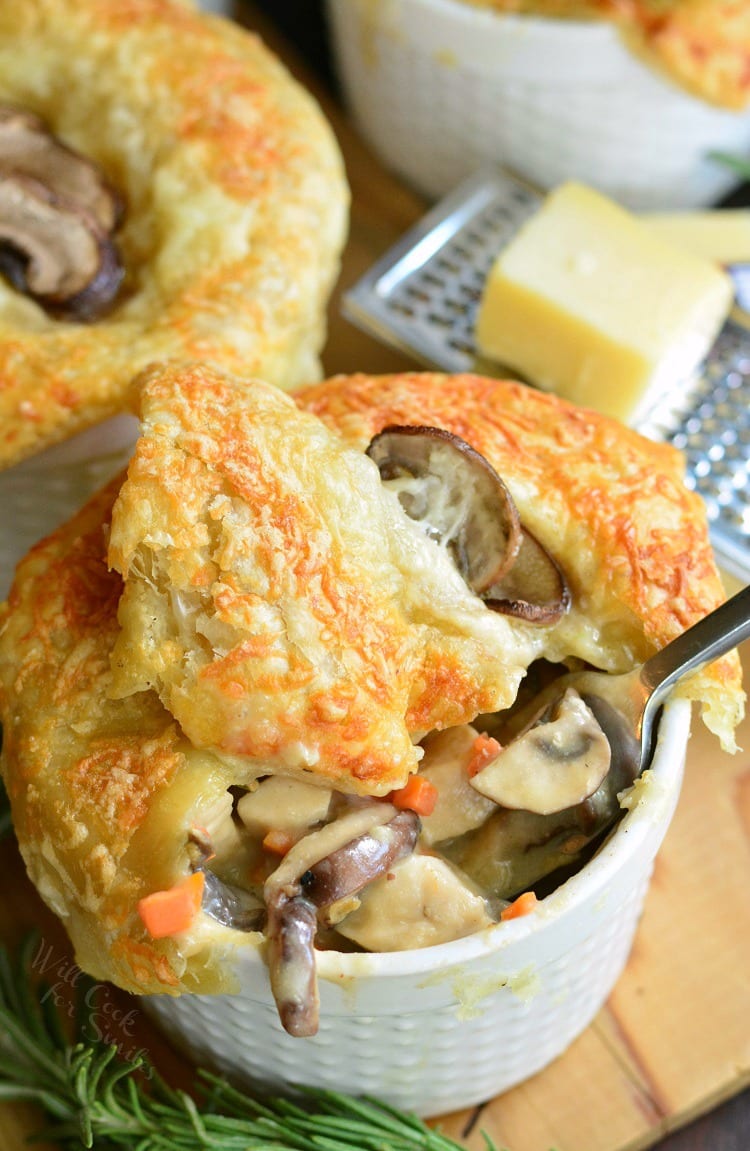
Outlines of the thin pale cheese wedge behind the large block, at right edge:
M640 216L658 236L717 264L750 262L750 209L649 212Z

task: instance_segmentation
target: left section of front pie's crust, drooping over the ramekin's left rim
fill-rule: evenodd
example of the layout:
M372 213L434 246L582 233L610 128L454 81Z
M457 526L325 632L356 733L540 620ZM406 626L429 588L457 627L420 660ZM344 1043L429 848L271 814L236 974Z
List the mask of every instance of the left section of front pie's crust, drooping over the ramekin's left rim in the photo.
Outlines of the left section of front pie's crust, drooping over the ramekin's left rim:
M188 960L184 939L148 938L136 905L188 871L190 826L237 771L194 752L154 693L109 699L121 482L31 550L0 609L0 765L29 875L81 966L132 991L211 990L222 931Z

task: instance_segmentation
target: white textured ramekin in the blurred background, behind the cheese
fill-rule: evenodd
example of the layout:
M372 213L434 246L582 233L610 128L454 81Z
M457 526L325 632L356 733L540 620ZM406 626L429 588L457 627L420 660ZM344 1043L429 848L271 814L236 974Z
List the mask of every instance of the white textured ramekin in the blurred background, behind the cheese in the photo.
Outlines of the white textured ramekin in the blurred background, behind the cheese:
M689 96L607 22L497 14L460 0L328 0L355 123L437 198L488 163L549 189L592 184L632 208L710 204L736 182L707 159L750 150L750 114Z

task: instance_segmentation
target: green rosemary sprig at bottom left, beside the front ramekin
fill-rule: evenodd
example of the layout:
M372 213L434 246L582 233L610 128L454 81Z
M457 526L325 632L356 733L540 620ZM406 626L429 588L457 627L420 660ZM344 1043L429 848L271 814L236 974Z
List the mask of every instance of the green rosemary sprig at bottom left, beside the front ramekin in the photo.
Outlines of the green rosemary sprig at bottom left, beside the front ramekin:
M261 1103L207 1072L196 1098L175 1090L144 1059L86 1039L92 981L76 983L78 1022L68 1036L67 1013L35 978L36 945L26 940L15 962L0 947L0 1100L38 1104L48 1119L41 1135L64 1151L461 1151L375 1099L307 1089L305 1105Z

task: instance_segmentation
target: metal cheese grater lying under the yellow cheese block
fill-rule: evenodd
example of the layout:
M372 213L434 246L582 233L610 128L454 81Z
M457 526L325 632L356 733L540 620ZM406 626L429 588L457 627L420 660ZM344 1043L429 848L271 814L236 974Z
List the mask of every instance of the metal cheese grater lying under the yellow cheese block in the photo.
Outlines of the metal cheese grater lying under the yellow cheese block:
M475 350L476 308L497 253L541 203L541 192L508 174L479 173L359 280L344 297L344 314L427 367L507 375ZM735 308L702 367L675 381L637 428L682 450L722 566L750 580L748 317Z

